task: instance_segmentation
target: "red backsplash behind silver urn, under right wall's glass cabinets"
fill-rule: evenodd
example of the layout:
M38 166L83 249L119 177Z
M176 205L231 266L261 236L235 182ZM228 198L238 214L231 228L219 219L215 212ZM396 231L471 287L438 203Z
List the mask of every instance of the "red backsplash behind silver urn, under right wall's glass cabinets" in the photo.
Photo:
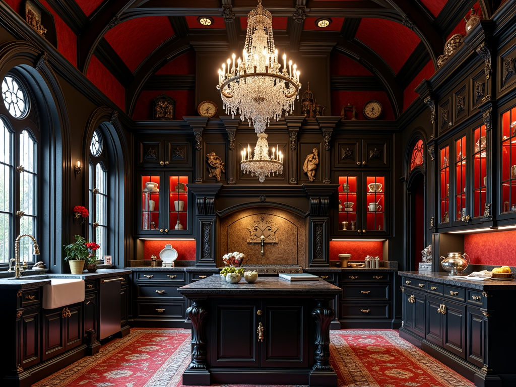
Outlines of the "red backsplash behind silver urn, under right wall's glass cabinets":
M472 264L516 266L516 231L464 235L464 252Z

